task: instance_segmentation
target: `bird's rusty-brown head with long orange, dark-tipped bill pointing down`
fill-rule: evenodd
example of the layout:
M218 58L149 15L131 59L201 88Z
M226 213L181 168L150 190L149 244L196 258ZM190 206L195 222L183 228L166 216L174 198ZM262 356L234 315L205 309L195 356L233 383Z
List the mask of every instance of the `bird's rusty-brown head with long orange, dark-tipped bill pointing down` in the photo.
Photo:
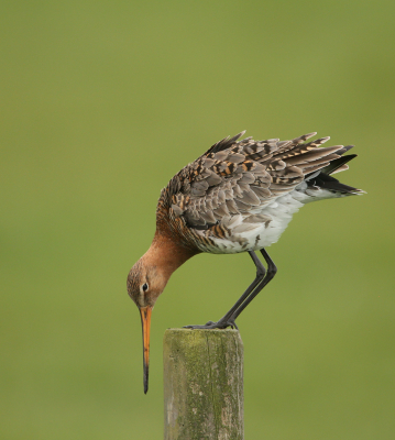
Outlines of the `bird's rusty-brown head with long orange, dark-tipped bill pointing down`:
M144 393L149 391L151 314L157 297L164 290L169 275L150 264L144 256L130 270L128 294L138 306L143 330Z

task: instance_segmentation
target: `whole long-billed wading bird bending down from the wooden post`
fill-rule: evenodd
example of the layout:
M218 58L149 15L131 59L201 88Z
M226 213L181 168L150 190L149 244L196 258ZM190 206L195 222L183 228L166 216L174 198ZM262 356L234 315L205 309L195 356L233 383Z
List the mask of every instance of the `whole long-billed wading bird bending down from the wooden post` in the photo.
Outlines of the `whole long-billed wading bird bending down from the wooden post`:
M246 252L256 275L238 301L218 321L186 326L238 329L235 319L277 272L265 248L279 239L293 215L310 201L365 193L332 177L349 168L356 155L344 153L353 145L322 147L329 136L307 142L316 132L290 141L240 140L244 133L213 144L162 189L152 244L128 275L128 294L141 316L145 394L152 310L174 271L202 252Z

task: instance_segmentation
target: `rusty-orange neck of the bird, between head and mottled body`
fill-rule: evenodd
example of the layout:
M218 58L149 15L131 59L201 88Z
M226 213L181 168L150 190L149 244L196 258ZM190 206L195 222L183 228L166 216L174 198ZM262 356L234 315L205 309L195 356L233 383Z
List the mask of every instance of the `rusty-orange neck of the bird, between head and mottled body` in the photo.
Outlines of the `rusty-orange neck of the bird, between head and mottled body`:
M196 253L176 243L171 237L156 231L154 240L143 258L144 262L156 267L167 280L174 271Z

